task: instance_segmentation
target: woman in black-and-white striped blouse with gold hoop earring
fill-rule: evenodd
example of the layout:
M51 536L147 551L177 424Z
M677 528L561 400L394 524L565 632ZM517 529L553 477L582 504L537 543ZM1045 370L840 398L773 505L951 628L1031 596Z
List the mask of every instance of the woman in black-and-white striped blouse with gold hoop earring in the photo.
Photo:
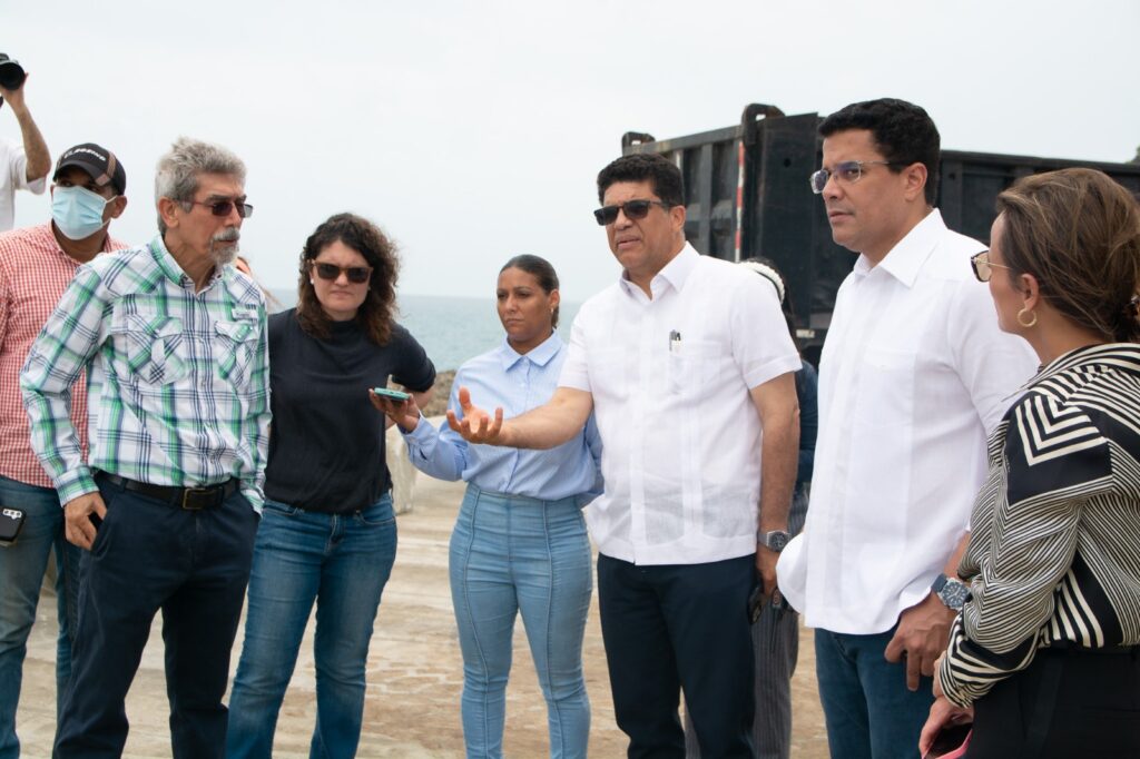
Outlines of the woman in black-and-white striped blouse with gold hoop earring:
M1028 177L974 258L1042 369L990 439L919 749L1140 757L1140 210L1099 171Z

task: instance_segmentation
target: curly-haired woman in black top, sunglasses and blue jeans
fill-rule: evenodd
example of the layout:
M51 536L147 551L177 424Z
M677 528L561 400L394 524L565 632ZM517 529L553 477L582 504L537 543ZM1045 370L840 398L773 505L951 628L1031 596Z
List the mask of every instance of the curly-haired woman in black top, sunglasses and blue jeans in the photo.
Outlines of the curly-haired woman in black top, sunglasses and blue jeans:
M368 390L391 376L422 405L435 381L424 350L393 320L398 266L392 244L369 221L331 217L301 254L298 307L269 319L274 419L229 703L229 757L271 754L314 602L310 756L356 753L368 643L396 558L384 417Z

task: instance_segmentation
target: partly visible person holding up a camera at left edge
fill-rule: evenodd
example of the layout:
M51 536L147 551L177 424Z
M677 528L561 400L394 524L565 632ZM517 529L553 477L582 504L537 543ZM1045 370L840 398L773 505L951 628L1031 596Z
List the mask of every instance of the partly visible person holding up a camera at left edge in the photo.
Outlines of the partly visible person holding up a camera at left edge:
M18 189L34 195L43 193L51 155L43 141L40 128L32 120L32 112L24 101L27 74L24 68L0 52L0 108L7 103L19 124L23 145L14 145L0 139L0 232L13 227Z

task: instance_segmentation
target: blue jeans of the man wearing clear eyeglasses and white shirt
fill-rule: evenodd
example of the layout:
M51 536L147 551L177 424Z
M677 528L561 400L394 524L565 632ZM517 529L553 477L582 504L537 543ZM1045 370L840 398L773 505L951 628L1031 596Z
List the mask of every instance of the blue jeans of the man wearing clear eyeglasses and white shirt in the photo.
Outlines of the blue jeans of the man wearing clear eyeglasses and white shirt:
M906 662L883 651L895 628L876 635L815 630L815 676L832 757L917 759L919 733L934 703L934 679L906 687Z

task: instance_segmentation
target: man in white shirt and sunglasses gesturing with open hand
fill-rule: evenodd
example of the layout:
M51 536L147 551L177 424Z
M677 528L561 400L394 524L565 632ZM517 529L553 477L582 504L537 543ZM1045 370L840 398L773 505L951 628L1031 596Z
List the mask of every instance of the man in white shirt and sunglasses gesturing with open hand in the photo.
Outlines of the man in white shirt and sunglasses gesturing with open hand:
M628 756L685 756L683 688L701 756L751 758L749 596L774 594L788 538L799 356L775 291L685 242L675 164L624 156L597 189L622 275L578 311L554 397L503 422L461 390L449 422L471 442L551 448L594 410L605 490L587 520Z

